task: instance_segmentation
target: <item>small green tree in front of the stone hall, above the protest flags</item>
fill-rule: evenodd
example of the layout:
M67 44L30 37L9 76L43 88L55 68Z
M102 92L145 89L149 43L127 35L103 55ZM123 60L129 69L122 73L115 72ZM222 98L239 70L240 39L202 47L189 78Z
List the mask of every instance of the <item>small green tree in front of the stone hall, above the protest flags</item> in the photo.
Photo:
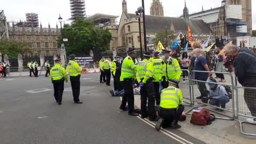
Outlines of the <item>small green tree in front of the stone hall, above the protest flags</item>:
M159 31L159 33L157 33L156 37L153 39L154 44L157 45L158 42L160 41L163 45L166 46L166 34L167 34L167 46L170 46L175 38L174 31L172 30Z

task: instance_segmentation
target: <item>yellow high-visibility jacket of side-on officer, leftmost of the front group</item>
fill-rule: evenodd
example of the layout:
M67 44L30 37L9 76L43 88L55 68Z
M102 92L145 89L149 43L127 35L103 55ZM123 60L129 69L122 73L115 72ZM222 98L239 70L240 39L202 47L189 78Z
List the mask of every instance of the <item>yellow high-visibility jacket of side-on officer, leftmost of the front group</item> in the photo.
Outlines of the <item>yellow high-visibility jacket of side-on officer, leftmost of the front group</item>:
M137 65L134 64L131 57L127 56L122 63L120 81L124 81L125 78L135 78L137 72Z

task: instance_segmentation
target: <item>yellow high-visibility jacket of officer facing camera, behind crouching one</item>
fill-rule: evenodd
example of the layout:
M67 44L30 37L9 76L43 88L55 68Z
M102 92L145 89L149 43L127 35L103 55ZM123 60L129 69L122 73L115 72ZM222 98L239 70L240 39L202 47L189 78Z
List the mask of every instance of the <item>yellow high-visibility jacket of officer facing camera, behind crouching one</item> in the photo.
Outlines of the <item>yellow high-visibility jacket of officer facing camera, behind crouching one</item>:
M181 69L177 59L171 58L169 62L167 62L167 60L164 60L162 63L164 71L163 76L165 76L166 82L168 81L168 79L180 80Z

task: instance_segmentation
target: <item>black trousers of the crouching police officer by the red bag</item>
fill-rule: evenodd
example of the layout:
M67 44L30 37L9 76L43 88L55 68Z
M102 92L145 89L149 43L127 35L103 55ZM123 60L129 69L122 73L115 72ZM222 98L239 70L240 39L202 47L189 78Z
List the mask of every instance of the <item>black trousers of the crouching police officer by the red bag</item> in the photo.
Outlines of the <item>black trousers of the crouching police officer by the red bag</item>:
M169 126L173 120L178 123L180 116L182 112L184 111L185 107L183 105L179 105L178 108L170 108L170 109L165 109L165 108L160 108L160 113L159 116L163 118L163 125Z

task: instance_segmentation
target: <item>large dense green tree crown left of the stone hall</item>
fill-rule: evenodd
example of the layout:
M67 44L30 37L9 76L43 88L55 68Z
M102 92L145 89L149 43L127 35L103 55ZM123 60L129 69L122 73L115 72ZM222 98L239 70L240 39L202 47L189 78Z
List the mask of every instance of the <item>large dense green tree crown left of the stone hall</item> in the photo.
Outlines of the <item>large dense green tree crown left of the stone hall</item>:
M90 50L94 52L104 52L109 49L109 43L112 39L108 29L101 29L93 25L93 22L85 21L83 18L77 18L70 25L64 25L62 37L68 38L65 42L67 54L89 54ZM61 45L61 38L58 40Z

